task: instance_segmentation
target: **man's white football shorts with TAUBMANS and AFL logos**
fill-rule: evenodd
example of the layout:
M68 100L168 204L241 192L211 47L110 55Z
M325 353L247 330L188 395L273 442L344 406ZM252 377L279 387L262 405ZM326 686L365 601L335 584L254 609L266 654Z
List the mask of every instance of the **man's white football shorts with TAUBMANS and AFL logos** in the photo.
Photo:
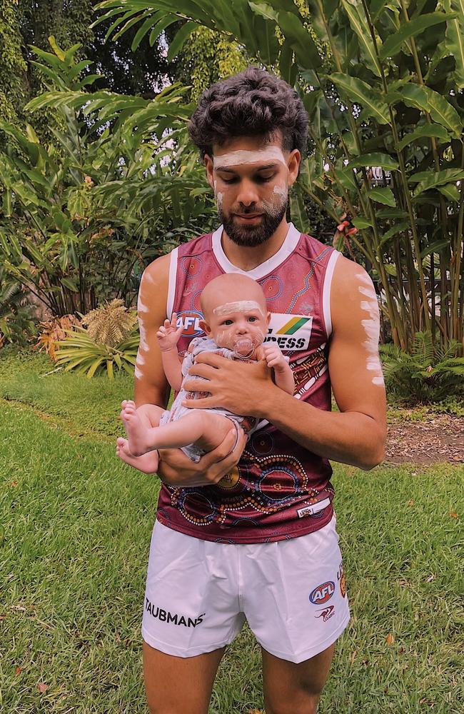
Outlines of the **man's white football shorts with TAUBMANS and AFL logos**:
M276 543L200 540L156 521L143 603L143 639L193 657L228 645L248 620L269 653L303 662L350 619L336 518Z

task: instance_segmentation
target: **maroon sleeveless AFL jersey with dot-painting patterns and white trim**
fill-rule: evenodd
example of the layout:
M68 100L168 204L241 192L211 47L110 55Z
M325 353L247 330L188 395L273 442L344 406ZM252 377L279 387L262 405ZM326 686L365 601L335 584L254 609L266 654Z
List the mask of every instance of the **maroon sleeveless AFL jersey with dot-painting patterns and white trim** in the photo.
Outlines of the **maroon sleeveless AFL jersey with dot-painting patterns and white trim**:
M340 253L290 224L276 255L252 271L233 266L221 246L222 227L171 253L167 316L176 311L184 330L178 343L186 350L203 334L200 296L221 273L243 273L258 281L271 322L266 341L277 341L290 358L295 395L318 409L331 409L328 338L330 290ZM161 486L158 521L203 540L266 543L296 538L326 526L333 515L332 468L278 431L258 425L238 466L214 486Z

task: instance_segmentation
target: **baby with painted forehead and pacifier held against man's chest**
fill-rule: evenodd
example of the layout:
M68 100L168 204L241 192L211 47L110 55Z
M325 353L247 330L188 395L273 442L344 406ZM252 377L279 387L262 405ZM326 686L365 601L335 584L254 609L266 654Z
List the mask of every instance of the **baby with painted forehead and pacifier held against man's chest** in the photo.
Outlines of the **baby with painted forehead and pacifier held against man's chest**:
M237 299L240 296L240 299ZM176 313L165 320L156 333L161 349L164 373L178 392L170 411L153 404L136 408L133 401L123 401L121 418L127 440L118 438L116 454L126 463L145 473L158 468L158 448L181 448L192 461L212 451L231 431L231 422L249 431L256 420L239 416L223 408L195 409L183 406L186 398L208 396L204 392L187 392L183 382L195 379L188 369L201 352L215 352L224 358L242 361L265 359L273 368L274 381L293 394L291 367L276 343L263 345L271 313L261 286L247 276L226 273L214 278L201 293L204 319L200 326L205 337L193 338L183 362L179 361L177 343L183 326L176 326Z

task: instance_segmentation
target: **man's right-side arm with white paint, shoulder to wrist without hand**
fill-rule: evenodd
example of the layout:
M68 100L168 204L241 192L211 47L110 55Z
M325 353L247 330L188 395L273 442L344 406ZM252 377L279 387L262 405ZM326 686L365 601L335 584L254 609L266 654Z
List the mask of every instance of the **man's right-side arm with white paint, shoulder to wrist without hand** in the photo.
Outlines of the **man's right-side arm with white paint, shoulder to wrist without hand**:
M328 368L340 412L284 396L269 401L266 418L319 456L368 471L382 461L386 437L378 303L368 273L347 258L333 273L331 316Z

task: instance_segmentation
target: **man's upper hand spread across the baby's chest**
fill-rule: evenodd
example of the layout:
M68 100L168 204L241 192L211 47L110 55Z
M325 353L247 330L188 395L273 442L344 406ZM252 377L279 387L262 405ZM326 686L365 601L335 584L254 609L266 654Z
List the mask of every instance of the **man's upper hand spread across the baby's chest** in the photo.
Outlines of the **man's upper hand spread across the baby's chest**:
M195 409L221 407L234 414L265 418L264 401L280 393L265 360L253 364L202 352L188 373L203 379L186 380L186 391L211 393L209 397L183 401L183 406Z

